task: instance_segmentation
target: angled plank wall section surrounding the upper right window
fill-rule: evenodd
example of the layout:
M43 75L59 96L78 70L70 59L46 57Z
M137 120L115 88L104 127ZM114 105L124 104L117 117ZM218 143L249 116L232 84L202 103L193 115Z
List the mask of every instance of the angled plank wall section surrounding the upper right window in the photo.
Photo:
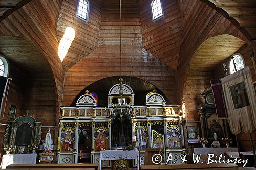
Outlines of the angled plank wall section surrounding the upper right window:
M140 0L143 47L172 69L177 70L183 26L177 1L161 1L164 17L152 21L151 2Z

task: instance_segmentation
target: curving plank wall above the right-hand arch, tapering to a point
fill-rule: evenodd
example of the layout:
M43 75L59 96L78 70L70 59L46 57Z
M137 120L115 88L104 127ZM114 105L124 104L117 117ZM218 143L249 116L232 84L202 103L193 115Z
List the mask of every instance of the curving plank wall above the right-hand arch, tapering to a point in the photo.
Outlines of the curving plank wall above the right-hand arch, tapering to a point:
M179 87L184 87L191 59L205 40L216 35L229 34L246 43L249 41L228 19L205 3L199 0L180 0L178 5L184 29L178 63L178 82ZM184 95L184 88L180 89L180 94Z

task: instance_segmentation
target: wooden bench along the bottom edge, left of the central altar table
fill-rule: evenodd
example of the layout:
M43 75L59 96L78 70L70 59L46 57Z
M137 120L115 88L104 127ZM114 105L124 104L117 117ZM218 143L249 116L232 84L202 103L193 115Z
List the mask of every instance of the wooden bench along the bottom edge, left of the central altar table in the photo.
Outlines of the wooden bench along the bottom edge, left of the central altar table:
M6 169L99 169L99 164L74 163L74 164L12 164Z

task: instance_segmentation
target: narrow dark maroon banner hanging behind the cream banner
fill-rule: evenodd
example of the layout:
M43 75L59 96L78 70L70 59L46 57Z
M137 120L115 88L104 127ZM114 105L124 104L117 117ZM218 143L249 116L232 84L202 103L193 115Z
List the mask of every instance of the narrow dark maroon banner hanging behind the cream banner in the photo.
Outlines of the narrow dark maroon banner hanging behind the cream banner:
M226 119L226 111L222 98L222 85L220 79L210 80L218 118Z

